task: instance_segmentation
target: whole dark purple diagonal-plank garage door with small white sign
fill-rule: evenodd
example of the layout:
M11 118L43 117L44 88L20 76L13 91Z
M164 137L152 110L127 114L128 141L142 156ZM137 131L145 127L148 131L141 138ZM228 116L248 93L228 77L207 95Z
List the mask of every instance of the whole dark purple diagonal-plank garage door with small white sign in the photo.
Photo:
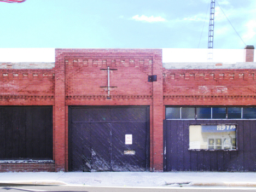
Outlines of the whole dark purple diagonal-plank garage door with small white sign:
M69 107L68 139L69 171L147 171L149 107Z

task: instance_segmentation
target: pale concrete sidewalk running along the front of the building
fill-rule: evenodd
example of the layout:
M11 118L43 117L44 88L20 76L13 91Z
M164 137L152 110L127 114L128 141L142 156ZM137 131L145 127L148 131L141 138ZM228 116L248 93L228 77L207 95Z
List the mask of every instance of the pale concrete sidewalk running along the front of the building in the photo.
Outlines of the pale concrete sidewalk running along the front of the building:
M0 173L0 185L79 184L112 187L256 187L254 172L25 172Z

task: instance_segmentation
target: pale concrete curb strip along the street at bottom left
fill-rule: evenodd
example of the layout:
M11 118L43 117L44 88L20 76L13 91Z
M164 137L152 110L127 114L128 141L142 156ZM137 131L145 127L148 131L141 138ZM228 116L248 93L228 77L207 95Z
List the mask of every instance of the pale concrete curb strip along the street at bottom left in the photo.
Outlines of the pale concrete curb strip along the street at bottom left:
M11 181L0 182L0 186L28 186L28 185L67 185L61 181Z

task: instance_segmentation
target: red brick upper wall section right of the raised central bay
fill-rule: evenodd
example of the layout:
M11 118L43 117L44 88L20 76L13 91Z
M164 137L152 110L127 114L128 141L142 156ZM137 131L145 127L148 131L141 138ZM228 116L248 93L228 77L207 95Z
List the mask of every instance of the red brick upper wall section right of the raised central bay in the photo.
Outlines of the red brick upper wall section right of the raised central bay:
M255 105L255 69L165 69L164 105Z

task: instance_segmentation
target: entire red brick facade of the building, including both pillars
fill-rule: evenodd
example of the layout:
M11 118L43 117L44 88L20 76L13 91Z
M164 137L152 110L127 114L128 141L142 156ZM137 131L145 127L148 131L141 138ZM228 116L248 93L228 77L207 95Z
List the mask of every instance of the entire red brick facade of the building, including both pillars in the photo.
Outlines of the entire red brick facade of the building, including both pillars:
M55 161L1 163L0 172L68 171L68 106L150 106L150 170L162 171L165 106L256 105L255 75L256 69L165 69L161 49L56 49L53 69L0 69L1 106L53 106Z

